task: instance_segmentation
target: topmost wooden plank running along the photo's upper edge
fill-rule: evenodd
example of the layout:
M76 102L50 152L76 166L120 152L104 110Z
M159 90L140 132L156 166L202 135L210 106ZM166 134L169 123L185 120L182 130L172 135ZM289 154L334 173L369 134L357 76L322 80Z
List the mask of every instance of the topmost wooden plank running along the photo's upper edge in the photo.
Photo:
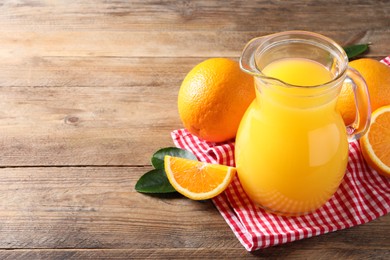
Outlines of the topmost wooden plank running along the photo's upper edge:
M0 26L11 30L339 32L390 27L388 1L7 1ZM288 17L286 17L288 15ZM347 21L347 22L346 22ZM200 42L200 41L199 41Z

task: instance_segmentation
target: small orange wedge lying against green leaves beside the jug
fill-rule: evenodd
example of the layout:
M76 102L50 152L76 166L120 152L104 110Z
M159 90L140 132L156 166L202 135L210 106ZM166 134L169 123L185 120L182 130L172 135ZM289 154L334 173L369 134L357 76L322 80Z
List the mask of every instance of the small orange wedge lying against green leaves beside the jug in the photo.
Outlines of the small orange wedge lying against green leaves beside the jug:
M236 168L166 155L165 172L176 191L193 200L210 199L226 189Z

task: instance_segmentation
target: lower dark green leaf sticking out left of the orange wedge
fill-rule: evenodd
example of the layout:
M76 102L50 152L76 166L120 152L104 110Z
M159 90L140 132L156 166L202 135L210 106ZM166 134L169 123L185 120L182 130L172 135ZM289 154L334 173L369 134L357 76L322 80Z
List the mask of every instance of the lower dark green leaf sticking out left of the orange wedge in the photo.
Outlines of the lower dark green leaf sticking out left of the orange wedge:
M142 175L135 184L135 190L141 193L176 192L169 183L164 169L154 169Z

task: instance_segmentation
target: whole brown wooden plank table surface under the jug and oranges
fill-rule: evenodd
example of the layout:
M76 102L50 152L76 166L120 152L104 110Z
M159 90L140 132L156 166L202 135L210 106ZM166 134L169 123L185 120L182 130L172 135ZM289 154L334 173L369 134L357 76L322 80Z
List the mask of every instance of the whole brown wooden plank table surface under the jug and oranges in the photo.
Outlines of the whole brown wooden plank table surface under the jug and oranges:
M210 201L134 190L186 73L291 29L381 59L390 1L2 1L0 258L389 258L389 216L248 253Z

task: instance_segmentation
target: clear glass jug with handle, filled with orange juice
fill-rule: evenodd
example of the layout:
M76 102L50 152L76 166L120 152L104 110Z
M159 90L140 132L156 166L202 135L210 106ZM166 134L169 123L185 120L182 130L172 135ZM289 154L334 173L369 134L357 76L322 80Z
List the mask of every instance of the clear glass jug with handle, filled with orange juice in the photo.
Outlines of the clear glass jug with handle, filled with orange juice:
M370 123L367 86L344 50L319 34L289 31L251 40L240 58L254 76L256 99L240 123L238 177L249 198L291 216L324 205L340 185L348 141ZM336 111L343 85L353 89L357 116L345 126Z

